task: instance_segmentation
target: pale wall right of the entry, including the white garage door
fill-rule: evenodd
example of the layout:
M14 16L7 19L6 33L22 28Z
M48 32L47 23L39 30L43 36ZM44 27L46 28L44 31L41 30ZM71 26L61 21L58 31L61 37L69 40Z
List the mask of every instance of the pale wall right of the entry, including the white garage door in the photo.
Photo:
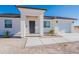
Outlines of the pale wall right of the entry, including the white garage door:
M50 28L44 28L44 33L49 32L54 27L58 28L58 31L70 33L73 32L73 21L69 19L44 19L44 21L50 21ZM57 21L57 23L56 23Z

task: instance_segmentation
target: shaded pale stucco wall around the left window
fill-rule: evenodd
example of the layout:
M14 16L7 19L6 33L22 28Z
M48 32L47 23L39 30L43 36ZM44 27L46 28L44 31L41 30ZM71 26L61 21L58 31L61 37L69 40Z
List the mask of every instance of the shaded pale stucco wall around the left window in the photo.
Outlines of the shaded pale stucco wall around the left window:
M12 28L5 28L4 21L6 19L12 20ZM0 35L3 35L4 31L10 31L10 34L19 34L20 33L20 19L19 18L0 18Z

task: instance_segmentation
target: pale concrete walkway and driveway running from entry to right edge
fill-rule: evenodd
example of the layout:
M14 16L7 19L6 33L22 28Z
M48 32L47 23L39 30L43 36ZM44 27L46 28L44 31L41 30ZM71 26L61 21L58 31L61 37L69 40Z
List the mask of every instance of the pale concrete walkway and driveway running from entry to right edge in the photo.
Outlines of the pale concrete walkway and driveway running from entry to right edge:
M28 37L26 47L79 41L79 33L66 33L62 37Z

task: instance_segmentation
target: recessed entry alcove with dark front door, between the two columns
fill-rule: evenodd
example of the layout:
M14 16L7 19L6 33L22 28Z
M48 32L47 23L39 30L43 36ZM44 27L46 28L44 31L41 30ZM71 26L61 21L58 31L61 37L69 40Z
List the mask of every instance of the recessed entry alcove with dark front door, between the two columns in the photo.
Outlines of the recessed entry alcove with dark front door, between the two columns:
M38 16L26 16L26 36L40 36L40 20Z

